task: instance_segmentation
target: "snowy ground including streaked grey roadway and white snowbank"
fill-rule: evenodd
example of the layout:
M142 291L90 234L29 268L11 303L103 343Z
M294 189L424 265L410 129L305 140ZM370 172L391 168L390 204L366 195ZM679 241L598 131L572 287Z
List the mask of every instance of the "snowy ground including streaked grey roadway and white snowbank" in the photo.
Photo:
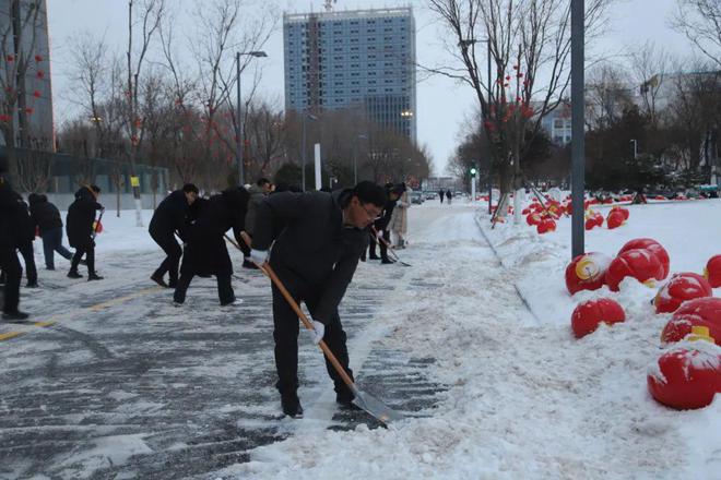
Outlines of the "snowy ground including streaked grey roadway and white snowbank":
M145 279L153 244L128 228L111 242L108 225L108 280L86 290L50 277L57 288L23 305L58 323L0 341L0 477L721 478L719 401L676 412L646 392L667 320L652 292L629 284L614 293L628 321L577 340L562 235L486 230L501 264L486 223L461 202L414 206L399 251L413 266L361 264L348 288L341 316L358 384L409 417L388 430L336 411L305 338L306 415L280 419L267 279L238 272L246 302L233 312L217 309L211 280L174 309Z

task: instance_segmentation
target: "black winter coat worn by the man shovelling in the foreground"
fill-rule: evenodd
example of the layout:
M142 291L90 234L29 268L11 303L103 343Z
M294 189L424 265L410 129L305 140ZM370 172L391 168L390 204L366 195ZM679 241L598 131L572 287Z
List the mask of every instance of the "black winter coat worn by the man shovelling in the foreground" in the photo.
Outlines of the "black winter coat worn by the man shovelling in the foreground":
M319 292L314 320L322 323L335 315L368 244L367 230L343 225L351 195L351 190L283 192L267 196L257 209L253 248L268 250L275 241L271 266Z

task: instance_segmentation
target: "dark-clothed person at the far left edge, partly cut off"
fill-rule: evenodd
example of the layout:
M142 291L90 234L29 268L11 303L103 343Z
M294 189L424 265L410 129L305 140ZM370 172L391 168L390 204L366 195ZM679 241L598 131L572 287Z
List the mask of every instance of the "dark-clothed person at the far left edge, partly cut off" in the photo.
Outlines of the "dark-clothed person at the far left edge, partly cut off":
M17 260L17 245L26 232L21 232L19 226L25 224L27 215L21 201L22 197L11 188L5 176L8 158L0 157L0 268L5 276L3 288L2 319L13 322L27 319L27 313L21 312L20 279L23 269Z

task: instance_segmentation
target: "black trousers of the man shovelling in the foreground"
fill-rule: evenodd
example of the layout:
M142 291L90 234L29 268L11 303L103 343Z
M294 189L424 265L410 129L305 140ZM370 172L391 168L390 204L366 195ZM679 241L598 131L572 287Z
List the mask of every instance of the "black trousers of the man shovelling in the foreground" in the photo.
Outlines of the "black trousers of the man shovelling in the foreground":
M304 283L283 268L276 267L275 273L296 302L304 301L312 315L320 299L321 290ZM331 319L323 319L323 321L327 322L323 341L326 341L326 345L328 345L328 348L333 352L348 376L353 379L353 372L348 368L346 335L338 311ZM299 319L275 285L273 285L273 327L275 369L277 371L275 386L281 395L295 394L298 388ZM335 384L335 392L345 396L352 395L350 388L328 359L326 359L326 369Z

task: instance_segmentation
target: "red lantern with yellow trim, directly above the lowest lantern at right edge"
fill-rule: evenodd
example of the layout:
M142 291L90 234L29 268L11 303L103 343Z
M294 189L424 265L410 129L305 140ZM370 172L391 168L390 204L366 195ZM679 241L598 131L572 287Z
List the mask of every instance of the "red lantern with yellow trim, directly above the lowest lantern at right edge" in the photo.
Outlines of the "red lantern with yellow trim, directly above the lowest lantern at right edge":
M696 332L694 332L696 328ZM721 299L697 298L684 302L663 327L661 341L681 341L689 334L704 334L707 340L721 346Z

